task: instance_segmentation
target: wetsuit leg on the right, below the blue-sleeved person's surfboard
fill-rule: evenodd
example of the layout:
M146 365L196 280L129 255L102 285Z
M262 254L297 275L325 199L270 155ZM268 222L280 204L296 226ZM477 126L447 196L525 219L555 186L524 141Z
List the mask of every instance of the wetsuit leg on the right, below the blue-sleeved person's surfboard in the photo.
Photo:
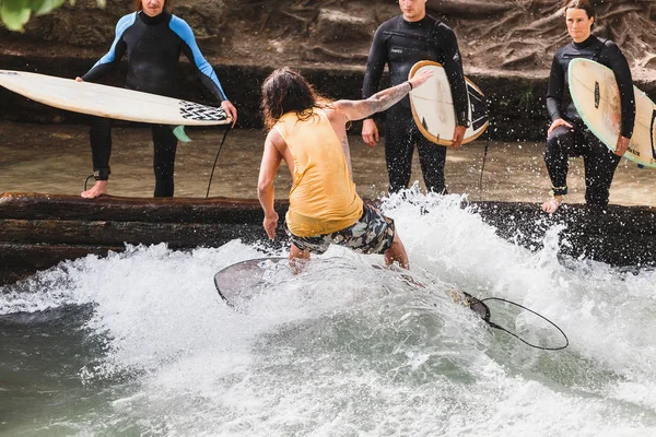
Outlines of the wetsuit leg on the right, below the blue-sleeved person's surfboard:
M175 169L175 152L177 150L177 138L175 138L169 126L153 125L153 170L155 173L155 197L173 197Z

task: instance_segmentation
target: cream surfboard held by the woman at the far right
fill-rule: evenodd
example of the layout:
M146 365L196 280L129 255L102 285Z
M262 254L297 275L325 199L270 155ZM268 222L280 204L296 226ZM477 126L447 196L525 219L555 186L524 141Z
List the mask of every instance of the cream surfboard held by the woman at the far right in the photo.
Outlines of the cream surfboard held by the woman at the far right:
M622 126L620 90L611 69L589 59L570 62L570 94L581 118L610 150L616 150ZM633 86L635 125L626 160L656 167L656 105Z

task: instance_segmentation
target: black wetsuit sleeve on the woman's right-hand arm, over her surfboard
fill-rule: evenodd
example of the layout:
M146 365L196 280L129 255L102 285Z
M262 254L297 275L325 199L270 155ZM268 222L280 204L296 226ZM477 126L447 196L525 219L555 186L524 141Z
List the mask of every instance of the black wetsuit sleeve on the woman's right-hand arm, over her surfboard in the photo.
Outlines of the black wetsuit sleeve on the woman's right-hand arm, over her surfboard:
M620 102L622 106L622 130L620 133L622 137L631 138L633 135L633 125L635 123L635 95L629 62L622 50L610 40L604 44L601 56L607 58L620 88Z

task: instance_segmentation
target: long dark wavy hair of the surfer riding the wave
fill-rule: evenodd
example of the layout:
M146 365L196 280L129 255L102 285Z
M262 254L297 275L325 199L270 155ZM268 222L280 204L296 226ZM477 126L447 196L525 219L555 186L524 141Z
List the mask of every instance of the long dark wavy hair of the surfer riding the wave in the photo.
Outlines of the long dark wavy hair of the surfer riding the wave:
M298 119L307 120L314 114L313 108L325 104L326 99L305 78L288 67L274 70L262 84L261 108L267 129L286 113L295 111Z

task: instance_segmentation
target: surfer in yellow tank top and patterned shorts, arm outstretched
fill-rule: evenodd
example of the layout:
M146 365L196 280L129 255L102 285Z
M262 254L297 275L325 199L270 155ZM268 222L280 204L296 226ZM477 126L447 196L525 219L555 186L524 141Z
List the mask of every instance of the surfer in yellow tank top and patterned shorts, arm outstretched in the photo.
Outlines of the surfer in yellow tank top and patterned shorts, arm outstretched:
M363 204L351 178L347 123L385 110L422 85L431 72L380 91L364 101L319 102L312 85L288 68L273 71L262 85L262 109L270 129L258 180L263 227L276 236L273 180L284 160L292 175L288 234L290 260L309 259L329 245L364 253L384 253L385 263L408 268L394 221Z

